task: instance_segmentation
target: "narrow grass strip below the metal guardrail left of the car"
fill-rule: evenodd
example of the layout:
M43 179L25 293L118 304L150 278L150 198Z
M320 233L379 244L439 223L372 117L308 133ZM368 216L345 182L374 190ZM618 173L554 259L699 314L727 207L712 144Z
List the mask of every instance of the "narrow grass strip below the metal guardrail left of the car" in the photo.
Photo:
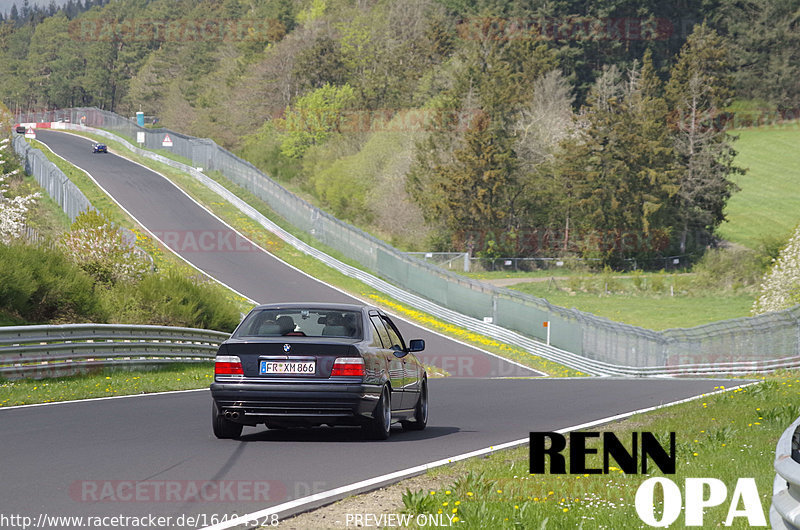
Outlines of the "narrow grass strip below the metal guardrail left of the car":
M208 388L213 378L214 365L208 362L152 370L95 370L52 379L0 379L0 407Z

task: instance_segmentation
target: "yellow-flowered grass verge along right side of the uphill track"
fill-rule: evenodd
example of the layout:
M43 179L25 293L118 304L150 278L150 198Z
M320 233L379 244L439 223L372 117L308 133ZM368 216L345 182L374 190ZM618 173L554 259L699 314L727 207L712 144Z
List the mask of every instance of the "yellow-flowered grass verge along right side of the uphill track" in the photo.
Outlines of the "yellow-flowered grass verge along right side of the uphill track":
M94 140L98 141L102 140L109 146L110 149L114 150L116 153L122 154L123 156L166 176L172 182L178 185L181 189L183 189L186 193L188 193L192 198L194 198L199 203L205 205L209 210L211 210L225 222L227 222L228 224L230 224L231 226L233 226L234 228L245 234L248 238L259 244L262 248L266 249L267 251L271 252L278 258L282 259L283 261L289 263L294 267L297 267L298 269L304 271L306 274L309 274L314 278L320 279L326 283L329 283L340 289L343 289L353 294L354 296L361 298L362 300L374 303L376 305L381 305L395 312L402 313L409 319L415 320L416 322L431 327L432 329L436 329L442 334L448 335L453 338L457 338L459 340L463 340L467 343L476 345L492 353L496 353L498 355L511 358L541 372L554 376L564 376L564 377L577 377L586 375L583 374L582 372L570 369L558 363L553 363L541 357L531 355L519 348L515 348L507 344L501 344L488 337L484 337L477 333L472 333L468 330L464 330L462 328L452 326L445 322L438 321L430 315L426 315L424 313L414 310L413 308L409 308L397 302L396 300L387 297L383 293L375 289L372 289L371 287L363 284L362 282L354 278L351 278L349 276L345 276L344 274L328 267L324 263L318 261L317 259L307 254L304 254L303 252L297 250L293 246L286 244L275 234L272 234L271 232L265 230L261 225L259 225L249 217L245 216L232 204L222 200L216 193L209 190L207 187L199 183L190 175L187 175L165 164L161 164L159 162L150 160L146 157L138 156L134 153L131 153L130 151L125 149L125 147L119 142L108 140L98 135L92 135L89 133L81 132L79 134L81 136L92 138ZM49 150L47 152L49 153ZM50 153L50 155L52 156L52 153ZM55 158L57 159L58 157ZM61 162L63 163L63 160ZM218 173L212 175L212 178L214 178L217 182L219 182L220 184L224 185L226 188L234 192L239 198L243 199L248 204L256 208L264 216L266 216L267 218L271 219L273 222L281 226L281 228L284 228L285 230L295 235L295 237L298 237L302 241L310 245L313 245L314 247L322 250L323 252L328 253L329 255L339 259L344 263L347 263L357 268L361 268L363 270L363 267L360 267L352 259L347 258L341 253L336 252L333 249L326 247L325 245L321 245L318 241L314 240L310 235L305 234L297 230L296 228L292 227L291 225L289 225L285 220L283 220L279 215L277 215L273 210L271 210L266 203L255 197L252 193L248 192L247 190L244 190L239 186L232 184L230 181L223 178ZM82 185L88 185L86 181L88 181L88 183L94 186L94 183L92 183L91 180L86 177L85 181L82 181ZM102 191L99 189L97 189L97 191L102 193ZM116 207L115 204L114 207ZM128 221L132 222L132 220ZM143 234L140 236L140 242L145 245L154 245L154 243Z

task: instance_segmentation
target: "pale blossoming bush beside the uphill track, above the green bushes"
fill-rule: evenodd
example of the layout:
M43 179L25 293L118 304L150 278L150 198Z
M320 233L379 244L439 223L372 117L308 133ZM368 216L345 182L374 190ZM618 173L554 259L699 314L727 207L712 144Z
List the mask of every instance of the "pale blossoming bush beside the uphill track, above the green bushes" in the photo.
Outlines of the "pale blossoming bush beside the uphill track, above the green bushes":
M58 245L101 283L140 280L150 270L150 263L137 255L119 230L95 211L80 214Z

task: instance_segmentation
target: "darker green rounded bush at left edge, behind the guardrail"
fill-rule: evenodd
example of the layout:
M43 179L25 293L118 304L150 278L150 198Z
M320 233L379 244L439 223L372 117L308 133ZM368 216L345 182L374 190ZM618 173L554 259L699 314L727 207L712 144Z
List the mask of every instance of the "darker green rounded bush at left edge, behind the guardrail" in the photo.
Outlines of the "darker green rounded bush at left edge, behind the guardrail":
M29 322L104 322L92 278L57 250L0 244L0 308Z

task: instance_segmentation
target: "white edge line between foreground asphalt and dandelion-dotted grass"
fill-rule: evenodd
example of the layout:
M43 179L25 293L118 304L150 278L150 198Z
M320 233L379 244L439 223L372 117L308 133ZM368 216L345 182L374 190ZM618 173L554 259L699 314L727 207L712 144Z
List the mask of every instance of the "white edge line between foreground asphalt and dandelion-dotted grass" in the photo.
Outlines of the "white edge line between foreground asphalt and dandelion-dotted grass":
M761 383L761 381L755 381L751 383L746 383L743 385L738 385L730 388L723 388L721 390L716 390L714 392L708 392L705 394L700 394L698 396L692 396L689 398L681 399L678 401L671 401L669 403L662 403L661 405L655 405L653 407L646 407L643 409L634 410L631 412L624 412L622 414L616 414L614 416L608 416L607 418L601 418L599 420L589 421L586 423L581 423L580 425L573 425L572 427L564 427L563 429L558 429L555 432L557 433L567 433L571 431L576 431L578 429L586 429L589 427L595 427L597 425L602 425L605 423L610 423L612 421L617 421L625 418L629 418L634 414L643 414L645 412L652 412L654 410L658 410L664 407L671 407L673 405L679 405L681 403L688 403L690 401L694 401L696 399L701 399L707 396L713 396L715 394L721 394L723 392L730 392L731 390L736 390L737 388L745 388L752 385L757 385ZM381 486L386 486L390 483L399 482L400 480L413 477L415 475L421 475L425 473L429 469L434 469L437 467L445 466L447 464L453 464L455 462L459 462L461 460L466 460L467 458L472 458L475 456L481 456L489 453L493 453L495 451L500 451L502 449L511 449L513 447L518 447L521 445L527 444L529 441L528 438L521 438L519 440L514 440L513 442L506 442L499 445L492 445L486 447L484 449L478 449L477 451L471 451L469 453L463 453L456 456L451 456L450 458L445 458L442 460L436 460L434 462L430 462L427 464L422 464L419 466L410 467L408 469L402 469L400 471L395 471L394 473L388 473L386 475L381 475L379 477L374 477L367 480L362 480L361 482L356 482L353 484L349 484L347 486L342 486L340 488L335 488L332 490L324 491L321 493L317 493L315 495L309 495L308 497L303 497L300 499L295 499L293 501L285 502L283 504L279 504L277 506L272 506L270 508L266 508L264 510L260 510L257 512L248 513L245 515L240 515L237 519L232 521L226 521L223 523L215 524L212 526L206 526L202 530L226 530L228 528L235 528L237 526L241 526L243 524L247 524L248 521L264 521L266 518L269 518L272 515L277 515L279 518L281 516L290 517L292 515L296 515L298 513L302 513L303 506L305 505L313 505L310 509L321 507L326 504L330 504L335 502L339 499L344 497L358 494L358 493L365 493L367 491L374 490ZM237 522L242 521L242 522Z

